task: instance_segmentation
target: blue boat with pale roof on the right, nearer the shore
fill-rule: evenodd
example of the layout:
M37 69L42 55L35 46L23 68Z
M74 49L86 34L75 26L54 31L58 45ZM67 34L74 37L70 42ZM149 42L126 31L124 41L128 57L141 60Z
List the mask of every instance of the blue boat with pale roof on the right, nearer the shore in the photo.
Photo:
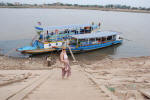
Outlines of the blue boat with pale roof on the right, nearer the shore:
M92 34L72 35L68 46L73 53L81 53L99 48L120 44L123 39L120 32L113 31L97 31ZM56 48L61 50L61 48ZM69 52L69 48L66 49Z

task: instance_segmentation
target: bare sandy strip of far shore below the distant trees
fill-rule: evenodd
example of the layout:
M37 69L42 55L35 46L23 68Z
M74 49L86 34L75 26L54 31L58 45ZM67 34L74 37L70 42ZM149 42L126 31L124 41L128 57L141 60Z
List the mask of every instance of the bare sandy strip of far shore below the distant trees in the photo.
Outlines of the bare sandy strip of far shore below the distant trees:
M98 8L98 7L75 7L75 6L0 6L0 8L80 9L80 10L100 10L100 11L115 11L115 12L150 13L150 11L147 11L147 10Z

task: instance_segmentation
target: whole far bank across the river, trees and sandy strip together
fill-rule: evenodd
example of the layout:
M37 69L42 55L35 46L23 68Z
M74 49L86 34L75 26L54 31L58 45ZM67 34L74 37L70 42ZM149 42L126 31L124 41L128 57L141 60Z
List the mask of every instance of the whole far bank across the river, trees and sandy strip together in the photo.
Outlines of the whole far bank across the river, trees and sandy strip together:
M0 8L58 8L58 9L91 9L104 11L123 11L123 12L145 12L149 13L150 8L131 7L127 5L79 5L79 4L63 4L60 2L52 4L20 4L20 3L3 3L0 2Z

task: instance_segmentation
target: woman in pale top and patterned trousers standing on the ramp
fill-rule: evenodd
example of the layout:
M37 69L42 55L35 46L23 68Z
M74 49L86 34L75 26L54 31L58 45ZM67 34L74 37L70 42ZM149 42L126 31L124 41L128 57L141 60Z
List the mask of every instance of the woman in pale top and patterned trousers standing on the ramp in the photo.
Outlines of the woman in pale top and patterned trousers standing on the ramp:
M68 78L71 75L71 68L70 68L69 59L66 53L66 47L62 48L62 52L60 54L60 61L63 63L62 79L64 79L65 75L67 75L67 78Z

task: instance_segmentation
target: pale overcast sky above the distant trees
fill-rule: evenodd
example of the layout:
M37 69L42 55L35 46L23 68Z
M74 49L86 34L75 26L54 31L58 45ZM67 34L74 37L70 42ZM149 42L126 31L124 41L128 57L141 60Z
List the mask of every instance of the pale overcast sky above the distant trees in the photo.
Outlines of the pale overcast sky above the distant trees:
M130 5L136 7L150 7L150 0L0 0L3 2L20 2L20 3L30 3L30 4L43 4L43 3L71 3L71 4L97 4L97 5L106 5L106 4L122 4Z

